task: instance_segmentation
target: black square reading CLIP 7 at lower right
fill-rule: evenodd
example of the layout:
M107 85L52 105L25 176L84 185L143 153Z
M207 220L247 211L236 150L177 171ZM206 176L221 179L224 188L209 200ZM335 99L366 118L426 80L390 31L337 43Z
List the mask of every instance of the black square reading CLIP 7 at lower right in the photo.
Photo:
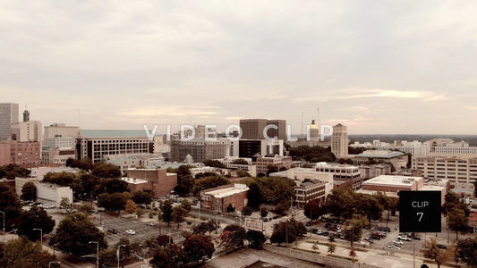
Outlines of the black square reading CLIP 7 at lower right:
M400 191L399 231L440 232L440 191Z

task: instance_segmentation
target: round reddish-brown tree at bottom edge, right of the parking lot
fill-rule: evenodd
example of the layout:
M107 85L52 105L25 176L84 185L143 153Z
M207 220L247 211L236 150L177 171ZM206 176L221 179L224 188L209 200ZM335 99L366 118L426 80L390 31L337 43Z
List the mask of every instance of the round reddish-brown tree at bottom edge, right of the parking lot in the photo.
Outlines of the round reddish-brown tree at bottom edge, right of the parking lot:
M212 257L215 250L212 240L207 236L192 235L183 241L183 251L192 263L202 263L205 257Z

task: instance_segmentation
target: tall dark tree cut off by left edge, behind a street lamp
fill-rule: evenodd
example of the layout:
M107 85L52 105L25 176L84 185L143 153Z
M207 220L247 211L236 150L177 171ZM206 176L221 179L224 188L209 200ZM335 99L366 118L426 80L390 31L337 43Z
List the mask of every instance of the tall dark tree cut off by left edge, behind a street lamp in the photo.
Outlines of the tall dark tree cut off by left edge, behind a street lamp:
M5 230L12 230L18 224L21 203L12 188L0 182L0 210L4 212Z

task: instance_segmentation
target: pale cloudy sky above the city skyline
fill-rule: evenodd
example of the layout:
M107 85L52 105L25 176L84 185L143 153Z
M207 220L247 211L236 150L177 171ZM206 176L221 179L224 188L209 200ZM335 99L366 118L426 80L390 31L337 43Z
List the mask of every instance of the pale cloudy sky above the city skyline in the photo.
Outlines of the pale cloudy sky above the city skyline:
M475 1L1 1L0 102L82 129L477 134Z

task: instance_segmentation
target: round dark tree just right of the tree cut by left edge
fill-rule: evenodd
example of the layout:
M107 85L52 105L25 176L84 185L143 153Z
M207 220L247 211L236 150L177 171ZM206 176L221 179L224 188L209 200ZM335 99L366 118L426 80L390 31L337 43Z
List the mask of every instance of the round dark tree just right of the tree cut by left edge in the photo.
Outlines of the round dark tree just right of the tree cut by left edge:
M45 235L54 228L55 220L41 207L32 206L29 211L23 211L20 214L18 233L31 241L37 241L41 236L38 230L33 229L41 229Z

